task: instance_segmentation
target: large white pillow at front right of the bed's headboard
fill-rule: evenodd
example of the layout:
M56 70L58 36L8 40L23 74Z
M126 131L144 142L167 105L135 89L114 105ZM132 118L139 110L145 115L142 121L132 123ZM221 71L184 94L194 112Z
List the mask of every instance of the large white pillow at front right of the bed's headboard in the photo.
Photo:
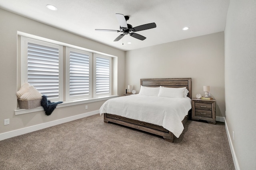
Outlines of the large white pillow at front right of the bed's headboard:
M184 98L185 89L186 87L171 88L171 87L160 86L158 97Z

